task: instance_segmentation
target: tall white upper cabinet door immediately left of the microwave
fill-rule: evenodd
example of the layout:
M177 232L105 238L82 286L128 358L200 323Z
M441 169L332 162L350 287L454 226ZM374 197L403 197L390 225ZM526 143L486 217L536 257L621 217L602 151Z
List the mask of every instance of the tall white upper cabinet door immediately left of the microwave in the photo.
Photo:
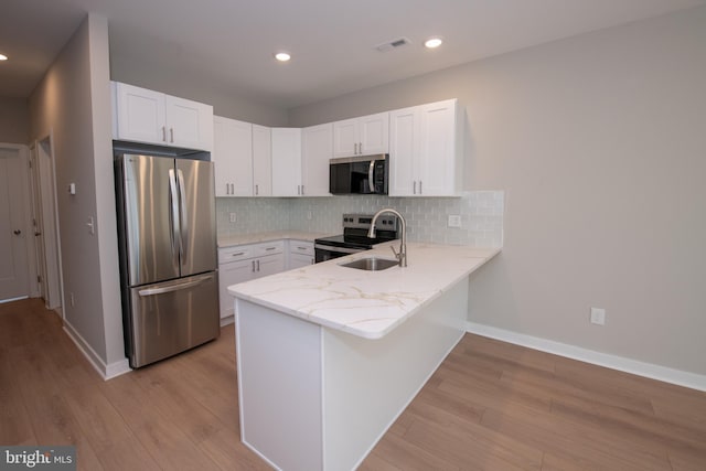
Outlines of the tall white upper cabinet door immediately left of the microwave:
M301 185L304 196L330 196L329 160L333 157L333 124L304 128L301 135Z

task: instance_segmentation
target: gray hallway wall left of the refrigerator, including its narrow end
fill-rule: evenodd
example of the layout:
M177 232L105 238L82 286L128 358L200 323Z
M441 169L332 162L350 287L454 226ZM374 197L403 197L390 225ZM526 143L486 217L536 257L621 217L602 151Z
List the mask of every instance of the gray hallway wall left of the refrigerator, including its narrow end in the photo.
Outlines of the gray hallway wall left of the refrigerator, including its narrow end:
M53 137L65 321L93 350L89 354L106 365L121 362L105 18L92 14L82 23L29 101L31 138ZM75 195L65 191L72 182ZM95 234L86 226L90 217Z

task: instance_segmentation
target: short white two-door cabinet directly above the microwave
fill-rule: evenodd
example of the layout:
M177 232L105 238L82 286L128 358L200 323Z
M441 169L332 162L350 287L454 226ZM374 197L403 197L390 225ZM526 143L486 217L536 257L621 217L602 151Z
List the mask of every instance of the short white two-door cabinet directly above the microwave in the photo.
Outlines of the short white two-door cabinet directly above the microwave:
M333 157L370 156L389 150L389 114L362 116L333 124Z

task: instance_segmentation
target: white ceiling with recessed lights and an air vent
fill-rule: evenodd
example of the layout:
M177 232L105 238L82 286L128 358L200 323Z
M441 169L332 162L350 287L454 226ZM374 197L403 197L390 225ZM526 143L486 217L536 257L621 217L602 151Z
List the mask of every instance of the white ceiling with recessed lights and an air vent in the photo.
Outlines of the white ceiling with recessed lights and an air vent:
M120 63L290 108L706 0L2 0L0 96L26 97L86 12ZM442 35L436 51L425 39ZM411 45L381 53L397 38ZM275 63L276 50L292 53ZM117 62L117 61L116 61Z

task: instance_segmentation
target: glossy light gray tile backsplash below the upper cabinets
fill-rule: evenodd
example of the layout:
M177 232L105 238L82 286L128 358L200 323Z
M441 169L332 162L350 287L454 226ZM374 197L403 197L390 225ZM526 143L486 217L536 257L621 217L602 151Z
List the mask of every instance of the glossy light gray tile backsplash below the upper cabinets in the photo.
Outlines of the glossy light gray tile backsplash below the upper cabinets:
M391 197L381 195L331 197L218 197L220 236L270 231L340 234L343 213L375 213L394 207L405 216L410 242L474 247L503 244L504 192L467 192L462 197ZM231 222L231 214L235 222ZM448 227L449 215L461 216L461 227Z

